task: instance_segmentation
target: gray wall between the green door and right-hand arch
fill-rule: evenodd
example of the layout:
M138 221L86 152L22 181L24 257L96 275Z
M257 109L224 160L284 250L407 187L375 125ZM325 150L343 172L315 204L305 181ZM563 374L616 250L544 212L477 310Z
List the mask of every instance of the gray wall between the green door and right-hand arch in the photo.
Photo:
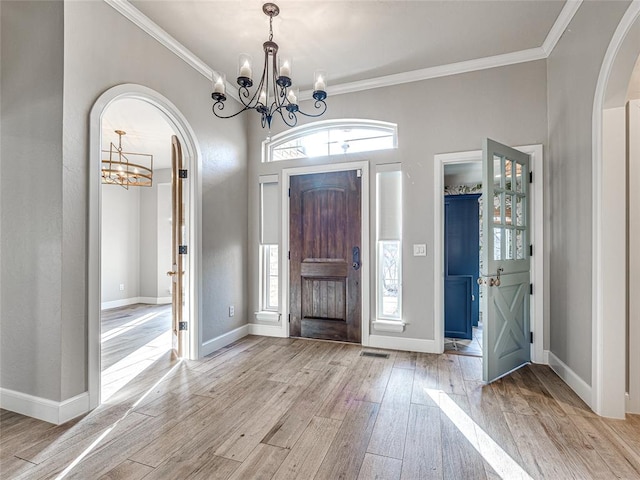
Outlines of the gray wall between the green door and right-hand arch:
M550 350L591 384L592 109L628 2L583 2L548 63Z

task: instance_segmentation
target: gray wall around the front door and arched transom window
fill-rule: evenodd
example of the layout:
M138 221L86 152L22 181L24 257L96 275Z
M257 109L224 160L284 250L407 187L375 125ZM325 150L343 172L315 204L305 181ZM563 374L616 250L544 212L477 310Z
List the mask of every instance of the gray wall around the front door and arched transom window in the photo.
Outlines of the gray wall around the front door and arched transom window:
M372 174L371 192L374 191L375 164L402 162L403 317L410 324L400 335L434 338L434 155L481 149L486 137L509 145L545 144L546 75L546 62L536 61L329 97L329 110L323 119L366 118L398 124L397 150L334 158L335 161L368 160ZM274 134L280 126L281 123L274 120ZM260 147L267 132L255 119L249 124L249 131L249 299L250 308L256 310L259 295L258 175L278 173L283 167L309 165L318 160L262 164ZM375 232L373 209L370 226L371 232ZM427 257L412 256L414 243L427 244ZM372 314L375 311L373 300Z

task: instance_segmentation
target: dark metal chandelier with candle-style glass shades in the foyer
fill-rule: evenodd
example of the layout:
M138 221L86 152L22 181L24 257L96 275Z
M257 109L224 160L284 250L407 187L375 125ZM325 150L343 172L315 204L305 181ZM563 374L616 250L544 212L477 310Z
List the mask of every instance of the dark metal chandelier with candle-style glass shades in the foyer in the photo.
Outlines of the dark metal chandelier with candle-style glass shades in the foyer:
M314 74L313 99L314 107L318 113L305 113L298 107L299 90L292 88L291 83L291 61L282 59L278 61L278 44L273 41L273 17L280 13L280 9L275 3L265 3L262 11L269 17L269 40L264 42L264 65L262 75L257 88L253 94L249 89L253 86L251 58L240 55L238 65L238 97L244 106L239 112L225 116L219 112L224 110L225 76L216 72L213 73L213 93L214 100L212 107L213 114L218 118L232 118L246 110L255 110L261 116L262 128L271 128L271 120L275 115L280 115L284 123L293 127L298 123L297 114L307 117L319 117L327 111L327 76L323 71L316 71Z

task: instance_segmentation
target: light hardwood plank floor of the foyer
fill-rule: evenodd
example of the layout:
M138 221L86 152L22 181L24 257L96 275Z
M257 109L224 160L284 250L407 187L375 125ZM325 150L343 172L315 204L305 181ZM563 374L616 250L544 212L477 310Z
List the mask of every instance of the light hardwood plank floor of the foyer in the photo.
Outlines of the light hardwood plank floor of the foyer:
M595 416L547 367L249 336L165 354L52 426L0 418L2 478L640 479L640 417ZM64 476L60 476L63 473Z

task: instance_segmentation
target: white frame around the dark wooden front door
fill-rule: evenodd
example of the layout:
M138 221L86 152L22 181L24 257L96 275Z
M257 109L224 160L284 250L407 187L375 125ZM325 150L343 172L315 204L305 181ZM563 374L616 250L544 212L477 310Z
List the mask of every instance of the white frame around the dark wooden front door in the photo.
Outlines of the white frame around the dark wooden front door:
M307 175L311 173L343 172L360 169L362 181L360 190L360 215L361 215L361 240L360 253L362 255L362 268L360 285L361 291L361 343L369 345L369 299L370 299L370 262L369 256L369 162L334 163L326 165L313 165L308 167L294 167L282 170L282 251L280 252L280 271L282 272L282 325L281 336L289 337L289 184L294 175Z

